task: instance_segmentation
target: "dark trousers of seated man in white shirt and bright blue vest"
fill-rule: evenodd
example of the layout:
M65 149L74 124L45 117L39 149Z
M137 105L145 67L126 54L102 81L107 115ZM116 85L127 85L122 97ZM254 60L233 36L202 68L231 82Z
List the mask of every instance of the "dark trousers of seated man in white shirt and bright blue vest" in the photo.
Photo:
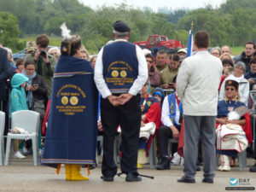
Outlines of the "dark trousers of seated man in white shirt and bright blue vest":
M180 126L176 127L178 131L180 131ZM168 126L161 126L158 135L158 149L160 156L168 155L168 143L169 138L172 138L172 130ZM172 144L172 154L177 152L177 143Z

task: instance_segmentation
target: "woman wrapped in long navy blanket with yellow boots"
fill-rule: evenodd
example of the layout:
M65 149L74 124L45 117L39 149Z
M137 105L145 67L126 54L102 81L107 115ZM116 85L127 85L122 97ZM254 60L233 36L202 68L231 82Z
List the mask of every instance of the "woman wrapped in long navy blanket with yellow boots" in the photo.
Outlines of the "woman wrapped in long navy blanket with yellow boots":
M80 167L96 162L98 93L90 62L79 59L80 47L79 36L61 42L42 160L57 173L65 164L67 180L87 180Z

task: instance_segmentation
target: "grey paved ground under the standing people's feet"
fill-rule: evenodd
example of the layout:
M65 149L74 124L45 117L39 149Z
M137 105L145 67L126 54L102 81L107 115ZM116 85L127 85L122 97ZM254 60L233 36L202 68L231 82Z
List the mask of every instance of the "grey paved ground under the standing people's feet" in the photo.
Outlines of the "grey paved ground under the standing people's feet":
M100 159L100 158L99 158ZM248 159L248 166L252 166L253 159ZM240 172L238 166L233 167L231 172L218 172L213 184L201 183L202 172L197 172L196 183L177 183L177 178L183 175L183 166L172 166L168 171L156 171L149 169L146 165L141 174L154 176L154 180L143 177L142 182L127 183L125 175L114 177L114 182L103 182L101 177L101 163L90 172L88 181L66 181L65 169L61 168L60 175L55 174L55 169L45 166L33 166L32 156L26 160L13 160L10 166L0 166L0 191L145 191L145 192L183 192L183 191L226 191L230 187L230 178L241 178L243 184L238 183L237 187L248 186L256 188L256 173L248 172L247 166L243 172ZM82 173L87 174L85 168ZM250 179L247 183L244 179ZM238 180L239 181L239 180ZM245 190L242 190L245 191Z

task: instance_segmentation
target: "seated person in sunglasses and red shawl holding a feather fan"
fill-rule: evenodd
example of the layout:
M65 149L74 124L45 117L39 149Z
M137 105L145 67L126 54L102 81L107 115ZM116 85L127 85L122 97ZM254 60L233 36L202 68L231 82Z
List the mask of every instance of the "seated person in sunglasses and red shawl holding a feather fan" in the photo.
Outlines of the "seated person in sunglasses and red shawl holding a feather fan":
M227 80L225 98L218 102L216 149L221 161L218 170L224 172L230 171L230 157L236 158L253 141L248 109L239 102L238 86L235 80Z

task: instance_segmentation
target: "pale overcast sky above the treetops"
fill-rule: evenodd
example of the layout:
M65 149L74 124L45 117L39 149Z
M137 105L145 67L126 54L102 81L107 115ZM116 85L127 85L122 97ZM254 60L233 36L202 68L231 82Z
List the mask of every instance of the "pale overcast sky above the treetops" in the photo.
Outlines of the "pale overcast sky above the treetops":
M114 6L115 4L126 3L134 8L143 8L147 6L154 11L157 11L160 7L167 7L172 9L197 9L205 7L207 4L212 4L213 8L218 7L221 3L225 3L225 0L79 0L84 5L89 6L92 9L102 7Z

